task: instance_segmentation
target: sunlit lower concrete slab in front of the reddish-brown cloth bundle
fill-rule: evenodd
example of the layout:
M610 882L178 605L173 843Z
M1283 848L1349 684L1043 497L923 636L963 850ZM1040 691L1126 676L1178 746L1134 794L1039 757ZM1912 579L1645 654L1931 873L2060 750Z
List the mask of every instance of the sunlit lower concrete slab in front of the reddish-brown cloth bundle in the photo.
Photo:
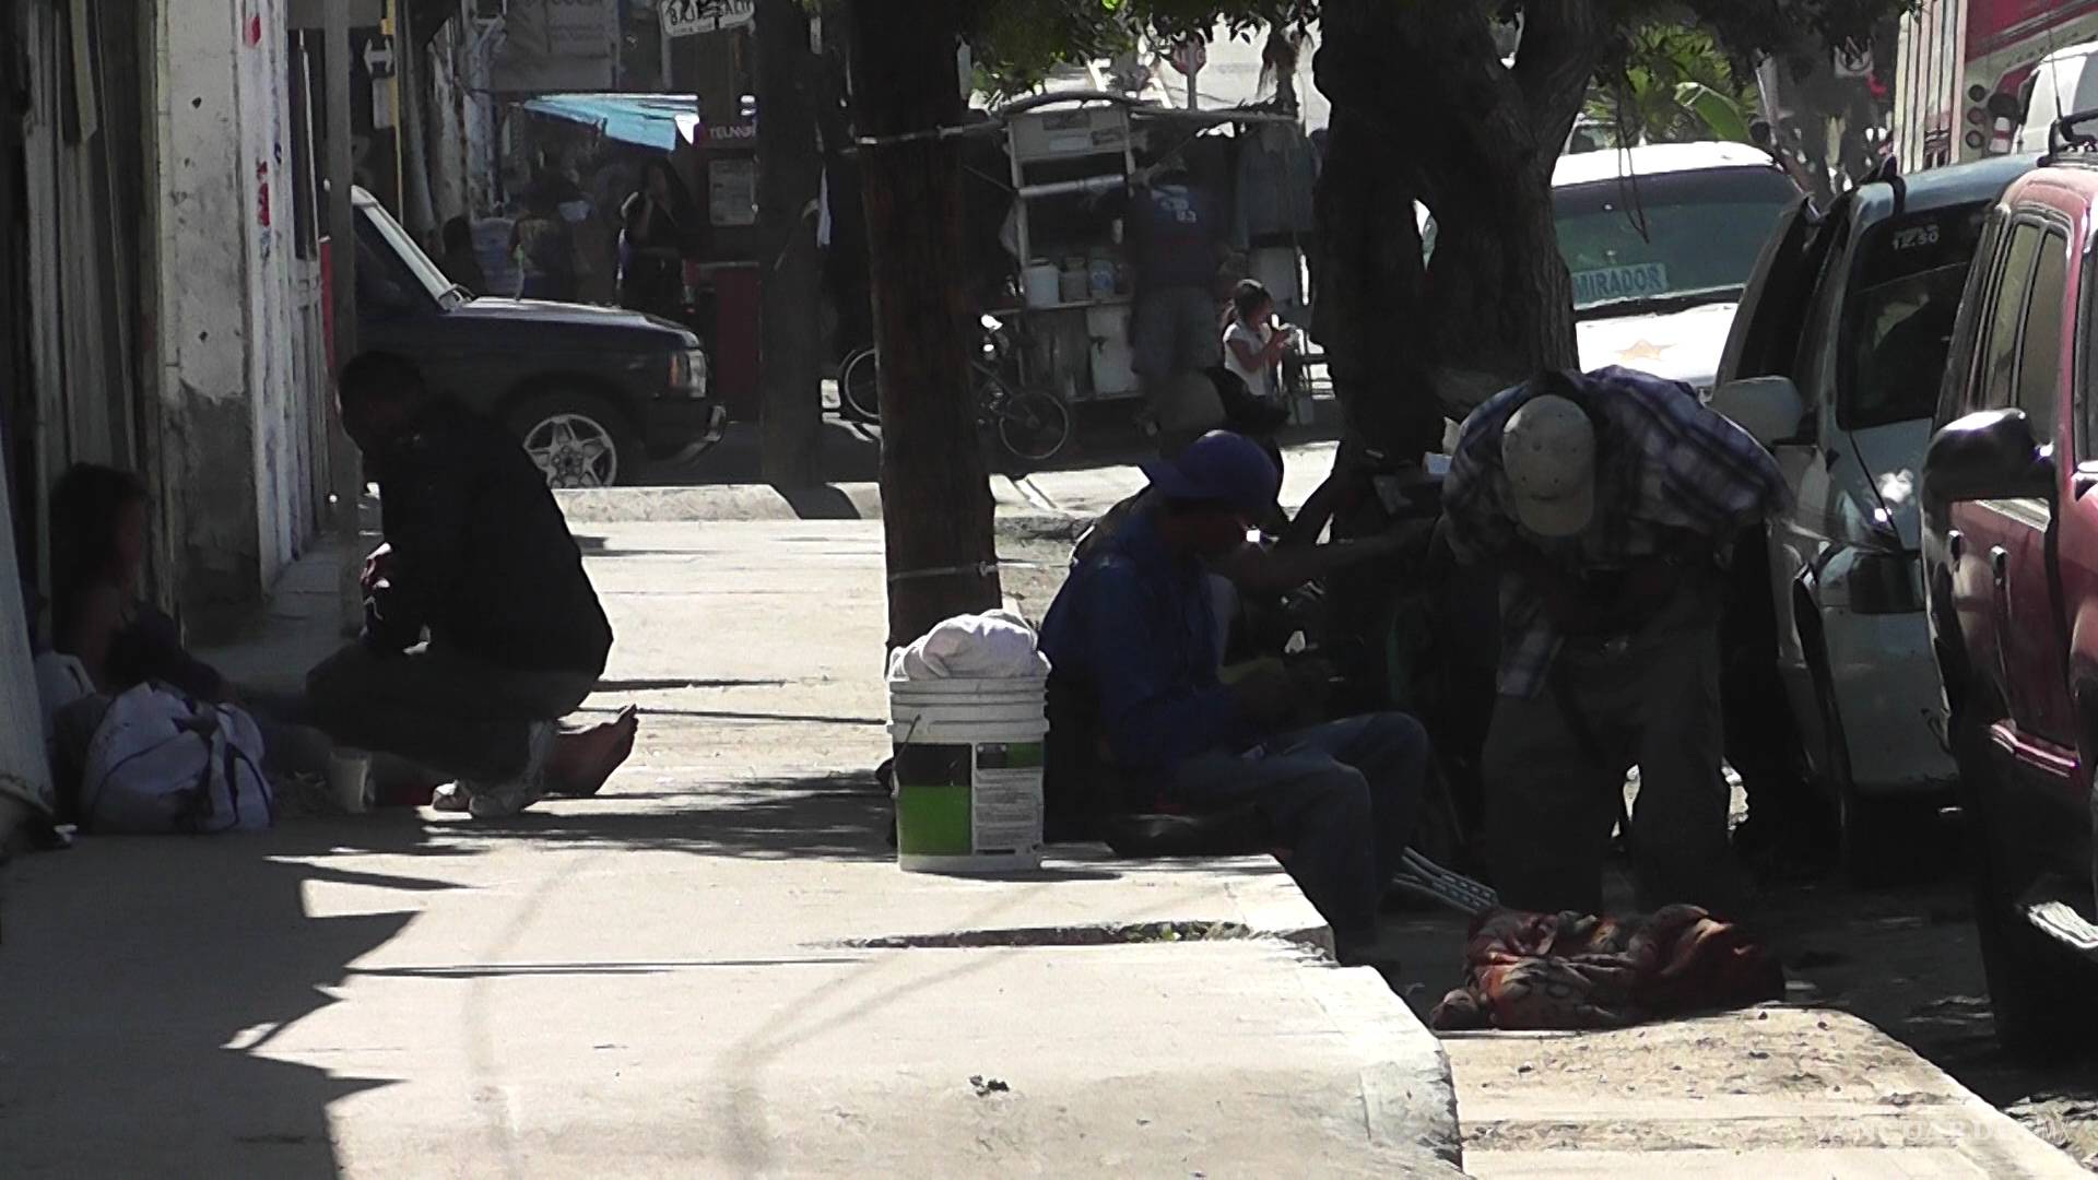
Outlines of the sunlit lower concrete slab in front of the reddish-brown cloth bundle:
M1609 1033L1448 1041L1481 1178L2088 1176L1844 1012L1758 1008Z

